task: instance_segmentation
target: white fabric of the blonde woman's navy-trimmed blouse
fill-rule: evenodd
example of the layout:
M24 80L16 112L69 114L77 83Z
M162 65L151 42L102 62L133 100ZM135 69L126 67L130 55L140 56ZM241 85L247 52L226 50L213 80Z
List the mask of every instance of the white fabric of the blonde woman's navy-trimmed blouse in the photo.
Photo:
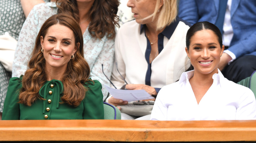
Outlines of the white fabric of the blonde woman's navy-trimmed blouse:
M174 23L178 23L175 25ZM175 26L170 39L163 37L163 50L151 63L150 82L151 87L161 88L177 81L183 71L190 66L190 60L185 52L185 39L189 26L178 18L172 23ZM141 24L135 20L126 22L119 28L115 39L115 59L118 70L128 84L145 84L149 64L145 58L147 50L147 38L144 30L141 32ZM163 32L169 32L165 31ZM169 32L170 33L170 32ZM125 83L113 66L111 81L121 88Z

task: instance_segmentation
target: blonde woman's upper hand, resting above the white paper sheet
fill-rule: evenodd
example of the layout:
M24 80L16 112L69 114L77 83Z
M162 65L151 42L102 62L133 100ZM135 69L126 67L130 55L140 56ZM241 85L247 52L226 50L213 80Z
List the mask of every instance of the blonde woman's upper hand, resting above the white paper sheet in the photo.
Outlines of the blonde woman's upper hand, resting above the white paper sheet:
M140 90L144 89L147 93L150 95L157 95L157 91L154 87L148 86L148 85L143 85L143 84L128 84L125 86L126 89L128 90Z

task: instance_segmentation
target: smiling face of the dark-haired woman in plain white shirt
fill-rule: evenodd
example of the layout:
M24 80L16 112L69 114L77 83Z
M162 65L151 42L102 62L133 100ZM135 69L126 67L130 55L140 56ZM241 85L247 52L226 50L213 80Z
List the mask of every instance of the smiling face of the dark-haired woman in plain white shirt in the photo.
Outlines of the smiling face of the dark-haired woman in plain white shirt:
M209 29L197 31L190 39L187 56L195 69L195 73L218 73L218 64L223 53L216 34Z

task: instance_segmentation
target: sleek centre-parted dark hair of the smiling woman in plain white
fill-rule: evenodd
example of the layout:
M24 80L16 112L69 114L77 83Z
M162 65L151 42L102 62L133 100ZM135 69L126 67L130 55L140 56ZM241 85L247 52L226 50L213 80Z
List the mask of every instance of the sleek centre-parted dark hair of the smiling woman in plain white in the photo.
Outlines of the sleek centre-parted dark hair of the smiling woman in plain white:
M214 24L204 21L204 22L198 22L198 23L192 25L188 29L187 35L186 35L186 47L188 50L189 50L191 38L195 35L195 33L197 31L206 30L206 29L213 31L213 33L217 36L220 46L222 48L222 35L221 35L220 29L217 26L215 26Z

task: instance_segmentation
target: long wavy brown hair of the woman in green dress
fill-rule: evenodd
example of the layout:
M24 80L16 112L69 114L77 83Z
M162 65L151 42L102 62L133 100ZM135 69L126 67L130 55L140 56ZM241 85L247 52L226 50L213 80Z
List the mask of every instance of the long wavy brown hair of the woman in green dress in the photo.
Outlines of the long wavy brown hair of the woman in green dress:
M39 95L39 90L47 81L45 58L41 52L40 36L44 38L48 28L55 24L69 27L75 36L75 43L80 43L79 47L76 45L77 51L74 54L74 58L68 62L66 72L60 79L63 83L61 101L76 107L85 98L87 89L84 87L84 83L88 81L90 67L83 55L82 31L72 16L61 13L47 19L37 35L35 47L29 60L28 70L22 78L19 103L31 106L38 99L45 100Z

